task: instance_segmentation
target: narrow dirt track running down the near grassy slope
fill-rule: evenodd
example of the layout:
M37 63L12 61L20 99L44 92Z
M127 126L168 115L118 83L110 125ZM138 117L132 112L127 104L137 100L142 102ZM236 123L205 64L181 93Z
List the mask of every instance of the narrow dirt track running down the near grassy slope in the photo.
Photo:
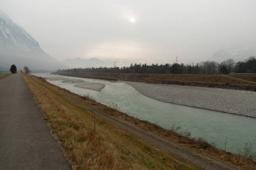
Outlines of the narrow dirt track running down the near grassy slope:
M86 108L90 110L90 112L92 112L93 114L96 114L96 116L100 116L104 120L112 124L115 124L119 126L119 128L127 130L132 134L135 134L139 138L142 138L143 140L146 140L147 142L150 142L155 146L158 146L159 148L169 151L170 153L173 153L174 155L177 155L187 161L191 161L192 163L194 163L199 167L202 167L203 169L209 169L209 170L237 169L232 165L226 165L226 163L223 163L221 161L218 161L209 157L205 157L203 155L199 155L195 153L195 151L192 151L191 149L183 148L178 144L174 144L174 142L172 142L171 140L168 140L166 138L162 138L161 136L157 136L156 134L147 132L146 130L143 130L141 128L138 128L137 126L134 126L133 124L129 124L128 122L124 122L123 120L120 120L113 116L108 116L91 105L80 105L79 103L75 103L75 104L81 106L82 108Z

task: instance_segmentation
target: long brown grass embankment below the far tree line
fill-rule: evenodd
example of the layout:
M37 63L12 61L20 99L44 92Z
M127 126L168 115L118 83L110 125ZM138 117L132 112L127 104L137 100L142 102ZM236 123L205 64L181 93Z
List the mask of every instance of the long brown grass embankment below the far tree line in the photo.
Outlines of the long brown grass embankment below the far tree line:
M107 79L121 81L139 81L174 85L192 85L200 87L219 87L256 91L256 75L199 75L199 74L133 74L133 73L68 73L59 75Z

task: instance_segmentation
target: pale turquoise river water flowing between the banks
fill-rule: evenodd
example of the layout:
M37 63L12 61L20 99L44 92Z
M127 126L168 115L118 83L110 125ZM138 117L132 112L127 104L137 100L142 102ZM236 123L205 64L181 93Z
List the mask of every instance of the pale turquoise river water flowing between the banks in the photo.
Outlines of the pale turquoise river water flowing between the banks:
M192 138L203 138L216 147L232 153L243 151L245 143L252 145L256 151L256 118L224 114L183 105L165 103L141 95L130 85L119 81L104 81L98 79L84 79L79 77L65 77L51 74L34 74L42 77L61 88L78 95L118 108L121 112L158 124L166 129L179 126L180 133L190 132ZM101 91L83 89L74 85L102 83L105 87Z

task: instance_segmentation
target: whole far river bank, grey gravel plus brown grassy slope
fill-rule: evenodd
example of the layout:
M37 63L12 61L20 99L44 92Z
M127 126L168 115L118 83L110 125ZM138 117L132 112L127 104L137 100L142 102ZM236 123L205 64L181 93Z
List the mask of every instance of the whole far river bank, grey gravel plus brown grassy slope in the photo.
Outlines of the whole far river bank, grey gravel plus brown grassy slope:
M75 76L72 73L61 74ZM156 80L156 76L159 76L158 81ZM253 77L255 77L255 75L236 75L236 77L233 77L227 75L86 73L83 75L78 74L78 77L92 77L110 81L125 80L123 82L131 85L137 91L139 91L139 93L152 99L179 105L186 105L194 108L202 108L206 110L214 110L228 114L256 118L256 105L254 104L254 101L256 101L256 93L253 90L248 91L247 89L247 87L249 89L253 87ZM167 79L174 79L175 82L179 83L178 85L176 85L177 83L173 83L173 81L168 83ZM197 83L191 83L192 80L197 81ZM199 82L203 80L207 82ZM217 83L218 86L214 85L214 81L219 82ZM225 83L228 83L228 85ZM238 89L240 90L231 88L236 86L234 83L236 83L236 85L237 83L240 83L238 85ZM208 85L210 85L210 87L224 88L210 88Z

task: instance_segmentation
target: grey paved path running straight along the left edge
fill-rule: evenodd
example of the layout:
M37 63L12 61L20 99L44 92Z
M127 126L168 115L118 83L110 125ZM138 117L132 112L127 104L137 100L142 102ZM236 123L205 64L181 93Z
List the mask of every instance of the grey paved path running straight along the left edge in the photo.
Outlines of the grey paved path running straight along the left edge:
M20 74L0 80L0 169L71 169Z

